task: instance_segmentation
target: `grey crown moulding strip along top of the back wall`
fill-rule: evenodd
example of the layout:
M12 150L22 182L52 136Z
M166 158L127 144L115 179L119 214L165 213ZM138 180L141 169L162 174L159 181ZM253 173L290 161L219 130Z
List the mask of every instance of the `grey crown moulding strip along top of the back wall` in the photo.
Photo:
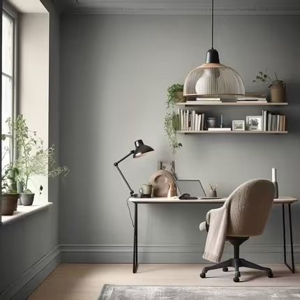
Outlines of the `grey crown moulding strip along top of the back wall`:
M205 15L211 0L53 0L65 13ZM219 15L300 15L300 0L215 0Z

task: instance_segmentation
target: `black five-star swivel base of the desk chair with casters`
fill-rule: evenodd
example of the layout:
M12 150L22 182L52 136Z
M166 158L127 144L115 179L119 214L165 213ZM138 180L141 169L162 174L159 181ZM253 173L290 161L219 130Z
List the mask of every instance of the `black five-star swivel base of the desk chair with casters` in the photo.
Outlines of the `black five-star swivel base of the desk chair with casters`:
M223 271L228 271L228 267L234 267L234 282L239 282L239 277L241 277L241 273L239 271L240 267L246 267L255 270L266 271L269 278L273 278L273 273L270 268L262 267L259 264L254 264L253 262L248 262L248 260L244 260L243 258L239 257L239 246L241 243L246 241L248 237L228 237L227 240L232 243L234 246L234 258L230 260L226 260L225 262L220 262L218 264L213 264L213 266L204 267L202 269L202 273L200 274L201 278L206 277L207 271L214 270L214 269L223 269Z

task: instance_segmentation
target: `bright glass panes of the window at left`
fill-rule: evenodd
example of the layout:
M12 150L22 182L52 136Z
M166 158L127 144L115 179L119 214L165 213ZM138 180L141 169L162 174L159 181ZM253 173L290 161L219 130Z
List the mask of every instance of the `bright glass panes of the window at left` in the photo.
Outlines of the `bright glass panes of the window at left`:
M6 120L15 118L15 18L2 13L2 170L14 155L13 133Z

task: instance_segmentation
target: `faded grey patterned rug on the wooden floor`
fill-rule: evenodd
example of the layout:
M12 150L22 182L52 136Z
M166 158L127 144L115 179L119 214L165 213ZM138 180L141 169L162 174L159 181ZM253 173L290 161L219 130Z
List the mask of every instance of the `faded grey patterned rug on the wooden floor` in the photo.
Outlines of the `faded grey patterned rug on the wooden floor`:
M300 300L300 287L105 285L99 300Z

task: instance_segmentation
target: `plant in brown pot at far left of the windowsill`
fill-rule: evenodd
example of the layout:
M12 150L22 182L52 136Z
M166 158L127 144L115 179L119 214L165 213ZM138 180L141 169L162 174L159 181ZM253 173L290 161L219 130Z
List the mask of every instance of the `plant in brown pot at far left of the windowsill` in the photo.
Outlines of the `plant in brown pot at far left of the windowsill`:
M14 211L17 210L17 200L19 194L17 190L13 189L13 184L10 184L11 180L10 170L7 169L1 176L1 214L3 216L12 216Z

